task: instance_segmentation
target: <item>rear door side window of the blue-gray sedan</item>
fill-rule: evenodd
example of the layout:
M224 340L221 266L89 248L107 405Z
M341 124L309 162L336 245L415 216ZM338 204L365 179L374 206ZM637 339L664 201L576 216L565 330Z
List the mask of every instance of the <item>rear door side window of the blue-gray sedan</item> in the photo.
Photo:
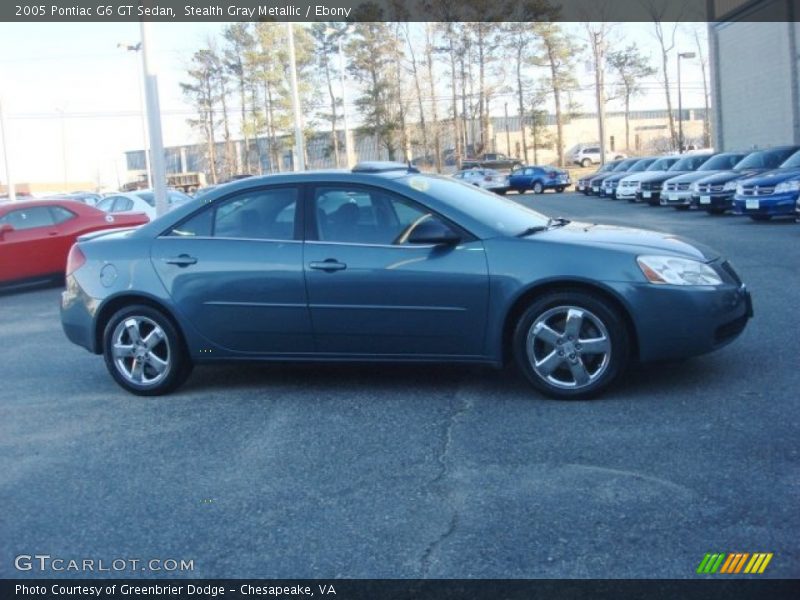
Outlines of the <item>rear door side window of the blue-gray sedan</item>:
M215 203L175 227L170 235L293 240L297 188L253 190Z

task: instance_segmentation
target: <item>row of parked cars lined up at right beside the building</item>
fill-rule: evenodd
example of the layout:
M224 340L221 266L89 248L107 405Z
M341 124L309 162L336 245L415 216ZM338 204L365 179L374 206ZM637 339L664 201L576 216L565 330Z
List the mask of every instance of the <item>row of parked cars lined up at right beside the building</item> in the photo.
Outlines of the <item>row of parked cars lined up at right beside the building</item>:
M576 189L757 221L792 217L800 214L800 146L616 160L579 179Z

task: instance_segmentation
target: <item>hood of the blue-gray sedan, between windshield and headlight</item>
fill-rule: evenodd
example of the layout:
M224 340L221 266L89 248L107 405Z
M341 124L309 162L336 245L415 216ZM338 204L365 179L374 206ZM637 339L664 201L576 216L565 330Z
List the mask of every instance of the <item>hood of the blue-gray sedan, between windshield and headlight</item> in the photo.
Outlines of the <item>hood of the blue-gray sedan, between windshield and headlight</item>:
M717 251L686 238L670 233L615 225L573 221L563 227L554 227L546 232L534 234L529 239L543 238L556 243L616 248L636 255L668 254L704 262L719 258Z

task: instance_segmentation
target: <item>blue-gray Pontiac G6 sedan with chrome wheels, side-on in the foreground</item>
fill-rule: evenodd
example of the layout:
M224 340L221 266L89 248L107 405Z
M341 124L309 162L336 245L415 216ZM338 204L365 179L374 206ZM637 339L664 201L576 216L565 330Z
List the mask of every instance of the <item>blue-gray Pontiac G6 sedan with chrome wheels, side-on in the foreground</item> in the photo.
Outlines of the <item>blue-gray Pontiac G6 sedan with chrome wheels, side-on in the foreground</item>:
M751 315L709 248L391 164L253 177L82 238L61 306L67 337L140 395L207 361L513 360L544 394L586 398Z

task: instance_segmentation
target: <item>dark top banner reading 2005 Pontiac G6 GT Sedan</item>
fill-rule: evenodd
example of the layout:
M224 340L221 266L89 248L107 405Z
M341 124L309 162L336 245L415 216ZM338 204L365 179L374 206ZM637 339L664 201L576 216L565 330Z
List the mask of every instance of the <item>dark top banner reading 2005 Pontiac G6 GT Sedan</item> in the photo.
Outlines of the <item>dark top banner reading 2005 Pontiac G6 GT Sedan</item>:
M0 21L795 21L800 0L5 0Z

